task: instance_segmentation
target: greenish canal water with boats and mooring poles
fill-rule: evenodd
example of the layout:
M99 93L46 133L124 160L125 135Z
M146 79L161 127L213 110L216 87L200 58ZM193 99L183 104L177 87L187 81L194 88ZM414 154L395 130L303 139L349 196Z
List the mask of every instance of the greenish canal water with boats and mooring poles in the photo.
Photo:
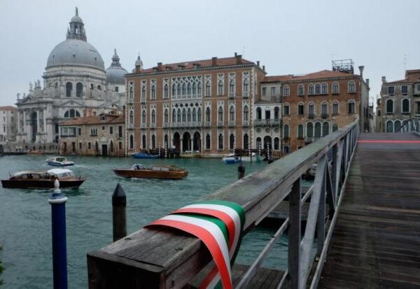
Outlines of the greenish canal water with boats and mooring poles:
M0 178L16 171L46 170L45 156L0 157ZM237 166L216 159L141 160L142 164L176 164L186 167L184 180L129 180L119 178L114 167L131 167L130 157L69 157L71 170L87 181L78 190L66 190L67 270L69 288L87 288L86 253L112 242L111 196L119 182L127 195L127 233L139 230L174 209L200 199L237 180ZM266 162L244 162L246 174L263 169ZM0 275L4 288L52 288L52 247L49 190L0 188ZM237 262L250 264L274 234L258 227L244 237ZM283 238L274 247L265 267L285 269L287 246Z

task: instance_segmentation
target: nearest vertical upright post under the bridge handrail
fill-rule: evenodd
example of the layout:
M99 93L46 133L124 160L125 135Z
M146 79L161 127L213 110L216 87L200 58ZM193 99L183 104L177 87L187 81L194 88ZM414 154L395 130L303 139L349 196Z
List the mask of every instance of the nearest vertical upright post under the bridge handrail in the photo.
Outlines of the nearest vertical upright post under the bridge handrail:
M289 195L288 275L290 288L300 288L300 178L292 185Z

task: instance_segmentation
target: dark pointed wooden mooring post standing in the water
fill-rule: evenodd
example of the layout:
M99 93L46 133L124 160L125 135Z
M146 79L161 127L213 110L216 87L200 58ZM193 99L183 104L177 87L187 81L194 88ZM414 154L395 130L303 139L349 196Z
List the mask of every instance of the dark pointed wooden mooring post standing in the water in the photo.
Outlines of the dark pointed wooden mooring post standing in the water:
M118 183L112 195L112 232L114 242L127 236L125 205L125 192L120 183Z

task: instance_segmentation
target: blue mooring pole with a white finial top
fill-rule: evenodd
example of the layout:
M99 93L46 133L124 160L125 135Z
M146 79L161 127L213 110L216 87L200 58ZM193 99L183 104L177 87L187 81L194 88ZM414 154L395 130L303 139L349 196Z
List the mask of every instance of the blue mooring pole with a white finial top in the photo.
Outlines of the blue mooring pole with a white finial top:
M54 289L67 288L67 248L66 248L66 202L67 197L59 189L55 179L54 191L48 199L51 204L52 223L52 274Z

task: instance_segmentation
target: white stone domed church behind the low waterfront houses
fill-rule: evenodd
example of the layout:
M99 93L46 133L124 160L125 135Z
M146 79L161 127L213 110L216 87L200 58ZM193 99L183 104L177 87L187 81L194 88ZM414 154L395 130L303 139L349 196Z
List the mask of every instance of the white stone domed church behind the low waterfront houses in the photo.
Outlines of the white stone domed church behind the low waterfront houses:
M116 50L111 66L105 69L101 55L87 42L85 24L76 8L66 40L48 56L43 87L37 80L29 83L28 94L18 94L18 143L36 147L55 143L59 139L59 122L99 113L122 113L125 73Z

